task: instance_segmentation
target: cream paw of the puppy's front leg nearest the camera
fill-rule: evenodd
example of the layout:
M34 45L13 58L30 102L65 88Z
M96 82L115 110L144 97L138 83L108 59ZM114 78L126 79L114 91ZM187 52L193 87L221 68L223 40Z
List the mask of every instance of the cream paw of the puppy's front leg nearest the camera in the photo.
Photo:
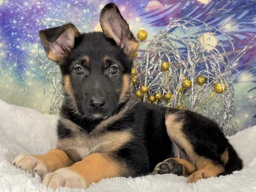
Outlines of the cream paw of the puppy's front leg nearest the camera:
M53 189L59 186L69 188L87 188L85 180L79 174L69 170L68 168L62 168L55 172L48 173L45 175L43 183Z

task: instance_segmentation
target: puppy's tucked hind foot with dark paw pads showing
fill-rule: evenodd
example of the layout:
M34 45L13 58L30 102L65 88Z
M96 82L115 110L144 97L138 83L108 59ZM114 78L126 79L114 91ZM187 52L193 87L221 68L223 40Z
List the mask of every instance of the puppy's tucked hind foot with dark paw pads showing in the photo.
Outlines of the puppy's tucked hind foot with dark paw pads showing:
M154 169L154 172L158 174L173 173L175 175L182 175L188 177L196 168L192 163L180 158L168 158L161 163L158 163Z

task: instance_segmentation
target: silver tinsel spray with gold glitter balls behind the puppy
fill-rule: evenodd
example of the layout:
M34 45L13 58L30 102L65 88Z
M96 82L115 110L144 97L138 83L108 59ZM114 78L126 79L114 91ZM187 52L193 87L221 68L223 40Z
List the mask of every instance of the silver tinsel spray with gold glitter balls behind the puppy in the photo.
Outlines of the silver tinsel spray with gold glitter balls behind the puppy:
M55 19L40 23L47 25L47 21L52 20L65 23ZM201 23L200 29L195 26L195 21ZM140 31L137 37L145 36L145 33ZM232 52L224 49L215 33L228 40ZM54 89L49 113L57 113L63 102L60 70L46 55L40 55L39 49L40 44L38 55L31 56L38 58L38 64L46 73L45 84L49 83ZM135 96L144 102L197 111L218 122L224 134L234 134L237 123L232 113L232 71L247 49L250 49L249 45L236 52L227 34L203 21L191 17L173 20L154 35L140 61L134 62ZM230 60L232 53L236 56Z

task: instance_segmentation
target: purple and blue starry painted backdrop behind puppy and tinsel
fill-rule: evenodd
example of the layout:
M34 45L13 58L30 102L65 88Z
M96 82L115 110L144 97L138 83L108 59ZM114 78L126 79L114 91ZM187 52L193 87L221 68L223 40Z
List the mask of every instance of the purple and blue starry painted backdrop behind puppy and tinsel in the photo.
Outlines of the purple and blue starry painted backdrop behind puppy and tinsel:
M43 93L45 73L37 58L29 54L38 54L39 30L63 23L38 22L52 18L71 22L80 32L99 31L99 13L109 2L119 7L134 34L140 29L148 32L148 39L141 47L144 49L155 32L170 21L186 16L206 20L207 24L224 31L238 51L256 35L256 0L0 0L0 99L48 111L53 90L46 84ZM212 11L215 14L207 17ZM226 20L229 21L225 23ZM253 41L253 47L236 66L240 75L233 72L234 113L239 129L256 125L255 44Z

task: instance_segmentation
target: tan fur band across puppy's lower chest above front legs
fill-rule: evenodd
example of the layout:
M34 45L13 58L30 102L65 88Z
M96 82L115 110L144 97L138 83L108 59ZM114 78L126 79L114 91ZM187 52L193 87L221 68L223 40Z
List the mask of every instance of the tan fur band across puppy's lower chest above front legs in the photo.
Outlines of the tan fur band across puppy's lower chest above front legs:
M57 148L66 152L75 162L92 153L110 153L125 146L131 140L130 131L108 131L101 134L75 134L59 139Z

